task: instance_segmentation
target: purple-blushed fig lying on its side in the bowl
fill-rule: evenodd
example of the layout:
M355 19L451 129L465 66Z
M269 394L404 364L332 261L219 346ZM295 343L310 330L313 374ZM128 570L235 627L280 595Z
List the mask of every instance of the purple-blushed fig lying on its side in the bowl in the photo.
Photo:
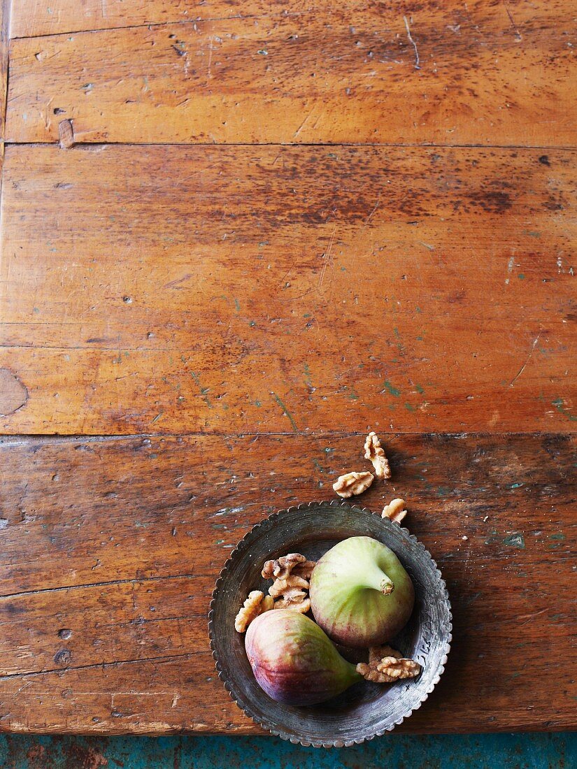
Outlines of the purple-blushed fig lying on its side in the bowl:
M362 681L319 625L292 609L260 614L245 648L258 685L276 702L314 705Z

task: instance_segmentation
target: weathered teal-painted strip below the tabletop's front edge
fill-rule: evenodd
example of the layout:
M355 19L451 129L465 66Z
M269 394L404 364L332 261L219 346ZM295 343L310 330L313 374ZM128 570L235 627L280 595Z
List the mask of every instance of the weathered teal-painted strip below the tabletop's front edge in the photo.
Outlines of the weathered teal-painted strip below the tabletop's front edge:
M577 733L388 734L355 747L301 747L273 737L0 735L2 769L572 769Z

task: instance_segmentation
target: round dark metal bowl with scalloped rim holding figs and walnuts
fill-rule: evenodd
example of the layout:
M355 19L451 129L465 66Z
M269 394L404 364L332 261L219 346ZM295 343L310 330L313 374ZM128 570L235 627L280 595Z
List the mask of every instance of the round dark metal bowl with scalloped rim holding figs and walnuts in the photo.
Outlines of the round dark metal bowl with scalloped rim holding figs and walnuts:
M422 664L422 673L415 679L389 685L362 681L339 697L312 707L273 701L255 681L245 653L244 634L235 631L238 608L249 591L267 591L270 581L262 579L261 569L269 558L299 552L316 561L337 542L357 536L386 544L411 576L415 609L409 624L391 645ZM444 670L451 622L445 581L425 547L388 518L333 501L282 510L246 534L216 581L208 631L218 677L238 707L256 724L293 743L343 747L391 731L421 706ZM339 651L350 661L359 661L358 650L355 653L339 647Z

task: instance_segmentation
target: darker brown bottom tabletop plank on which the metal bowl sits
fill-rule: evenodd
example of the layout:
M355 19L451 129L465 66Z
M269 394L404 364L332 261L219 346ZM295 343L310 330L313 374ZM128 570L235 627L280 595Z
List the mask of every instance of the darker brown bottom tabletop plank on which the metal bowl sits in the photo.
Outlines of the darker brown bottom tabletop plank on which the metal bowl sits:
M447 580L449 665L404 731L575 725L574 439L383 436L410 531ZM363 436L5 439L0 728L256 732L215 676L206 613L271 511L331 498ZM543 660L547 658L544 676Z

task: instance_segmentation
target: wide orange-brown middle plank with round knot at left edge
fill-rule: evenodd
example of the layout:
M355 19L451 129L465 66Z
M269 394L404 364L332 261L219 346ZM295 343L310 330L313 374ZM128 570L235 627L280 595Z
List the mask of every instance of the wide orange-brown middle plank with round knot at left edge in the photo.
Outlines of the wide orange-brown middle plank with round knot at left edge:
M574 161L9 147L2 429L574 431Z

